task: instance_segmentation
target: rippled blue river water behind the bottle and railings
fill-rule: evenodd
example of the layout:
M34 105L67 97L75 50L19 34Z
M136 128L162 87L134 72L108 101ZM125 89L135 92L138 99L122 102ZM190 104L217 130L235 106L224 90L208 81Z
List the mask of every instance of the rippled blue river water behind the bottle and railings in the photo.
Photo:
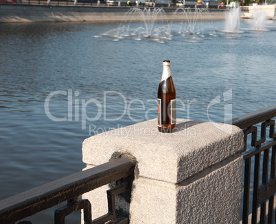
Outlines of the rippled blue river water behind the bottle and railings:
M81 171L85 138L156 118L163 60L179 118L223 121L274 104L276 22L242 29L251 23L228 34L224 21L205 22L211 35L162 41L102 35L119 23L0 24L0 199Z

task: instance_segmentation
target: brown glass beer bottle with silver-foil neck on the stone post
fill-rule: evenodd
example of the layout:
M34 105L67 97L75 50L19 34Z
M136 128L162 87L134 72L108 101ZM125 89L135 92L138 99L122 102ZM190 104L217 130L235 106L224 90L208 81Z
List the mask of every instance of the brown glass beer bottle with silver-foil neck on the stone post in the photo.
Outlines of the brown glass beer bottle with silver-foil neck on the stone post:
M176 91L170 61L163 61L163 73L157 94L158 129L159 132L173 132L176 127Z

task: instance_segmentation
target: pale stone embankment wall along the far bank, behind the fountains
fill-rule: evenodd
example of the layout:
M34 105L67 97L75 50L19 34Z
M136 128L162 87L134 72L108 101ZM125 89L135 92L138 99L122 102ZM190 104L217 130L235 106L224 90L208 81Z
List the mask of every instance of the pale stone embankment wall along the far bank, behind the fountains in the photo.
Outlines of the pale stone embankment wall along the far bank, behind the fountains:
M0 5L0 23L20 23L20 22L62 22L62 21L93 21L93 22L117 22L124 21L125 14L130 8L120 7L82 7L79 5ZM160 20L185 21L183 12L175 14L174 10L165 10L165 18ZM193 12L189 18L192 18ZM203 13L203 20L223 20L223 11ZM199 18L198 18L199 19ZM141 17L133 17L133 21L141 21Z

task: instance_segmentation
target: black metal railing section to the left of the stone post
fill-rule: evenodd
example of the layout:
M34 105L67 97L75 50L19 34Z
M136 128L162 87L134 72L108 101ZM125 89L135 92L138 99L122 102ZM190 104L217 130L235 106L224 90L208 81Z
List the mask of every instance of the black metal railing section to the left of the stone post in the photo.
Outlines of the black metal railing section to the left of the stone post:
M116 214L115 195L128 192L128 194L125 193L125 197L126 195L130 197L135 163L135 160L118 158L3 199L0 201L0 223L15 223L63 201L67 201L67 205L55 211L55 224L65 223L65 216L78 210L83 210L85 224L106 223L114 219L117 220L117 223L128 223L128 217L126 217L128 214L124 214L124 216ZM92 221L91 203L87 199L78 198L85 192L111 183L114 187L107 190L108 213Z

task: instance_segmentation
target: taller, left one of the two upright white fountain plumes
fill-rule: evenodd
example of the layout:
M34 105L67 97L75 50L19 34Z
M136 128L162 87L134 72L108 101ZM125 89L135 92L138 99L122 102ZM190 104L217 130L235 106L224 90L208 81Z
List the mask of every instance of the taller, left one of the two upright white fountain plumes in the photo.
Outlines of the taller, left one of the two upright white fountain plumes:
M223 32L237 33L240 29L240 8L231 8L226 14Z

